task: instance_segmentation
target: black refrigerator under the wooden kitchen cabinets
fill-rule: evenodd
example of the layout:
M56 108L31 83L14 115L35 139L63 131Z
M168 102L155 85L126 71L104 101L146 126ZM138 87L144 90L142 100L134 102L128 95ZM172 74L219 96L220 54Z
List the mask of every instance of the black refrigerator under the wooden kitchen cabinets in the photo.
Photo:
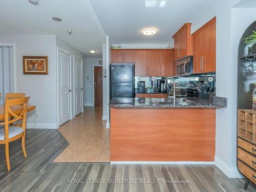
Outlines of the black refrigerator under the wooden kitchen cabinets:
M134 96L134 63L111 64L110 98Z

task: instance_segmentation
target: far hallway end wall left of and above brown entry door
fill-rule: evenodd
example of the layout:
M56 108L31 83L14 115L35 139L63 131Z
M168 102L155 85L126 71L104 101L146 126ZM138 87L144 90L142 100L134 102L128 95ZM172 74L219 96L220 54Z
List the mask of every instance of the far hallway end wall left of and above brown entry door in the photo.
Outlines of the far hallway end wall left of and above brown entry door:
M83 68L83 105L94 106L94 66L99 65L102 58L84 58Z

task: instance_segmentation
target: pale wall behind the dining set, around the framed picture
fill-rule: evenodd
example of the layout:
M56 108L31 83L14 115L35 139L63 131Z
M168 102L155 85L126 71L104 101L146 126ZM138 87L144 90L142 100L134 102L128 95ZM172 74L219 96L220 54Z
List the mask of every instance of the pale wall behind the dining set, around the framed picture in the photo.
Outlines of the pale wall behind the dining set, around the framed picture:
M56 36L55 35L0 35L1 43L16 44L16 89L30 96L29 103L36 110L28 114L28 127L57 127L56 94ZM23 56L48 56L49 75L24 75Z

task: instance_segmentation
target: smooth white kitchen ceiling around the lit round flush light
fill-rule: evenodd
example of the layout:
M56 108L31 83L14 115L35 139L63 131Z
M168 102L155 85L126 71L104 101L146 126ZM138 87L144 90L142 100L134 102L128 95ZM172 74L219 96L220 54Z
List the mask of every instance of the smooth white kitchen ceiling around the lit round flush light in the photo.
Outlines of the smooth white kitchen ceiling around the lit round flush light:
M113 44L172 44L172 36L214 0L90 0ZM164 5L165 4L165 5ZM162 5L162 7L161 7ZM164 7L163 7L164 6ZM156 28L144 36L144 28Z

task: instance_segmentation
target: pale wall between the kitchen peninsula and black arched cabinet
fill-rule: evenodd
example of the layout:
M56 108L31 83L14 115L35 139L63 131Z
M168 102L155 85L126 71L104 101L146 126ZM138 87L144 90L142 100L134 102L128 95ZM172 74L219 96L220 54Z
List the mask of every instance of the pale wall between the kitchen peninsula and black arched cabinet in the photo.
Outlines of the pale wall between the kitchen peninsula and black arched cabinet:
M227 108L216 111L215 164L229 178L241 177L237 169L236 152L238 42L242 35L241 31L244 31L246 26L249 25L248 23L255 19L253 10L247 9L244 12L236 12L232 9L231 12L231 8L238 2L240 0L216 0L193 20L193 25L191 26L191 33L193 33L212 17L216 16L217 18L216 95L227 97L228 104Z

